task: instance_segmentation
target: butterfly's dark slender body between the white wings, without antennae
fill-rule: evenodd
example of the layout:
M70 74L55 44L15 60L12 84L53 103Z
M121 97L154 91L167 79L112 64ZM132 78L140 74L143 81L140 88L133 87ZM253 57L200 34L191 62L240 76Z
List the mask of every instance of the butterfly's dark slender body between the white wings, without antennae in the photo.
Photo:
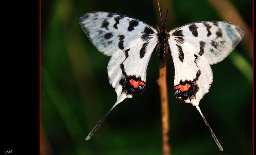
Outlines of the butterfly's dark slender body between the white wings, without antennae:
M166 29L162 27L158 33L158 41L159 41L159 49L158 49L158 57L163 58L165 56L165 47L168 40L168 36L166 35Z

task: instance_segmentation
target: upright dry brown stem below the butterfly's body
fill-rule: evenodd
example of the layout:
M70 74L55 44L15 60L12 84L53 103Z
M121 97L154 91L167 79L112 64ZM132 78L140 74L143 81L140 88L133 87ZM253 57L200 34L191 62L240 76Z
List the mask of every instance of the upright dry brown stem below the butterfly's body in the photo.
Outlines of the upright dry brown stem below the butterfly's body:
M159 85L160 101L161 101L161 114L162 114L162 143L163 155L170 155L169 145L169 108L166 84L166 58L159 58Z

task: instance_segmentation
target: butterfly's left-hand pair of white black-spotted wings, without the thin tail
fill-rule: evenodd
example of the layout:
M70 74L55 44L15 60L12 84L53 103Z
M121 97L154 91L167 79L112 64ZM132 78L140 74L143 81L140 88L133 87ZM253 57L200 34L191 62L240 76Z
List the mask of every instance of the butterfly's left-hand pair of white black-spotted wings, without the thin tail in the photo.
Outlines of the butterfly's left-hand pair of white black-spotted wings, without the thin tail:
M81 16L80 25L99 51L112 56L108 75L118 96L115 105L131 98L137 88L142 93L148 64L158 47L156 29L132 17L99 11Z

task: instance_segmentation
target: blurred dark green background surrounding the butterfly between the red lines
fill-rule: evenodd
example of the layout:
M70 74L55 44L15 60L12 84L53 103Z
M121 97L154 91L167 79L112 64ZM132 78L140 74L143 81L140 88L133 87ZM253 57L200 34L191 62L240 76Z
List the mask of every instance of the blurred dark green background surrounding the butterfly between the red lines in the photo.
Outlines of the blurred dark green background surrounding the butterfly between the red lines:
M252 29L252 1L231 3ZM164 6L169 8L167 31L195 21L223 20L208 1L170 4ZM116 93L106 71L110 57L92 45L79 25L79 17L86 12L108 11L155 27L161 24L155 5L146 0L41 1L41 154L162 153L157 54L149 66L144 93L135 92L116 106L85 141L115 103ZM225 60L212 65L214 81L200 101L223 152L196 107L174 97L172 63L167 59L173 155L252 154L251 52L239 44Z

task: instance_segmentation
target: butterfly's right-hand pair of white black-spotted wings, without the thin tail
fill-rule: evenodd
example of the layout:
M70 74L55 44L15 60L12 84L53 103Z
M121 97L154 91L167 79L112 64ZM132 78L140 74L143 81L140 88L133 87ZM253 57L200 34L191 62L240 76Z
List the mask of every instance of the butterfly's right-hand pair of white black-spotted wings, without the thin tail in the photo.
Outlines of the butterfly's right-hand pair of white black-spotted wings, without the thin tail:
M226 58L243 35L238 25L217 21L189 23L170 31L168 44L175 70L175 96L199 105L213 80L209 64Z

